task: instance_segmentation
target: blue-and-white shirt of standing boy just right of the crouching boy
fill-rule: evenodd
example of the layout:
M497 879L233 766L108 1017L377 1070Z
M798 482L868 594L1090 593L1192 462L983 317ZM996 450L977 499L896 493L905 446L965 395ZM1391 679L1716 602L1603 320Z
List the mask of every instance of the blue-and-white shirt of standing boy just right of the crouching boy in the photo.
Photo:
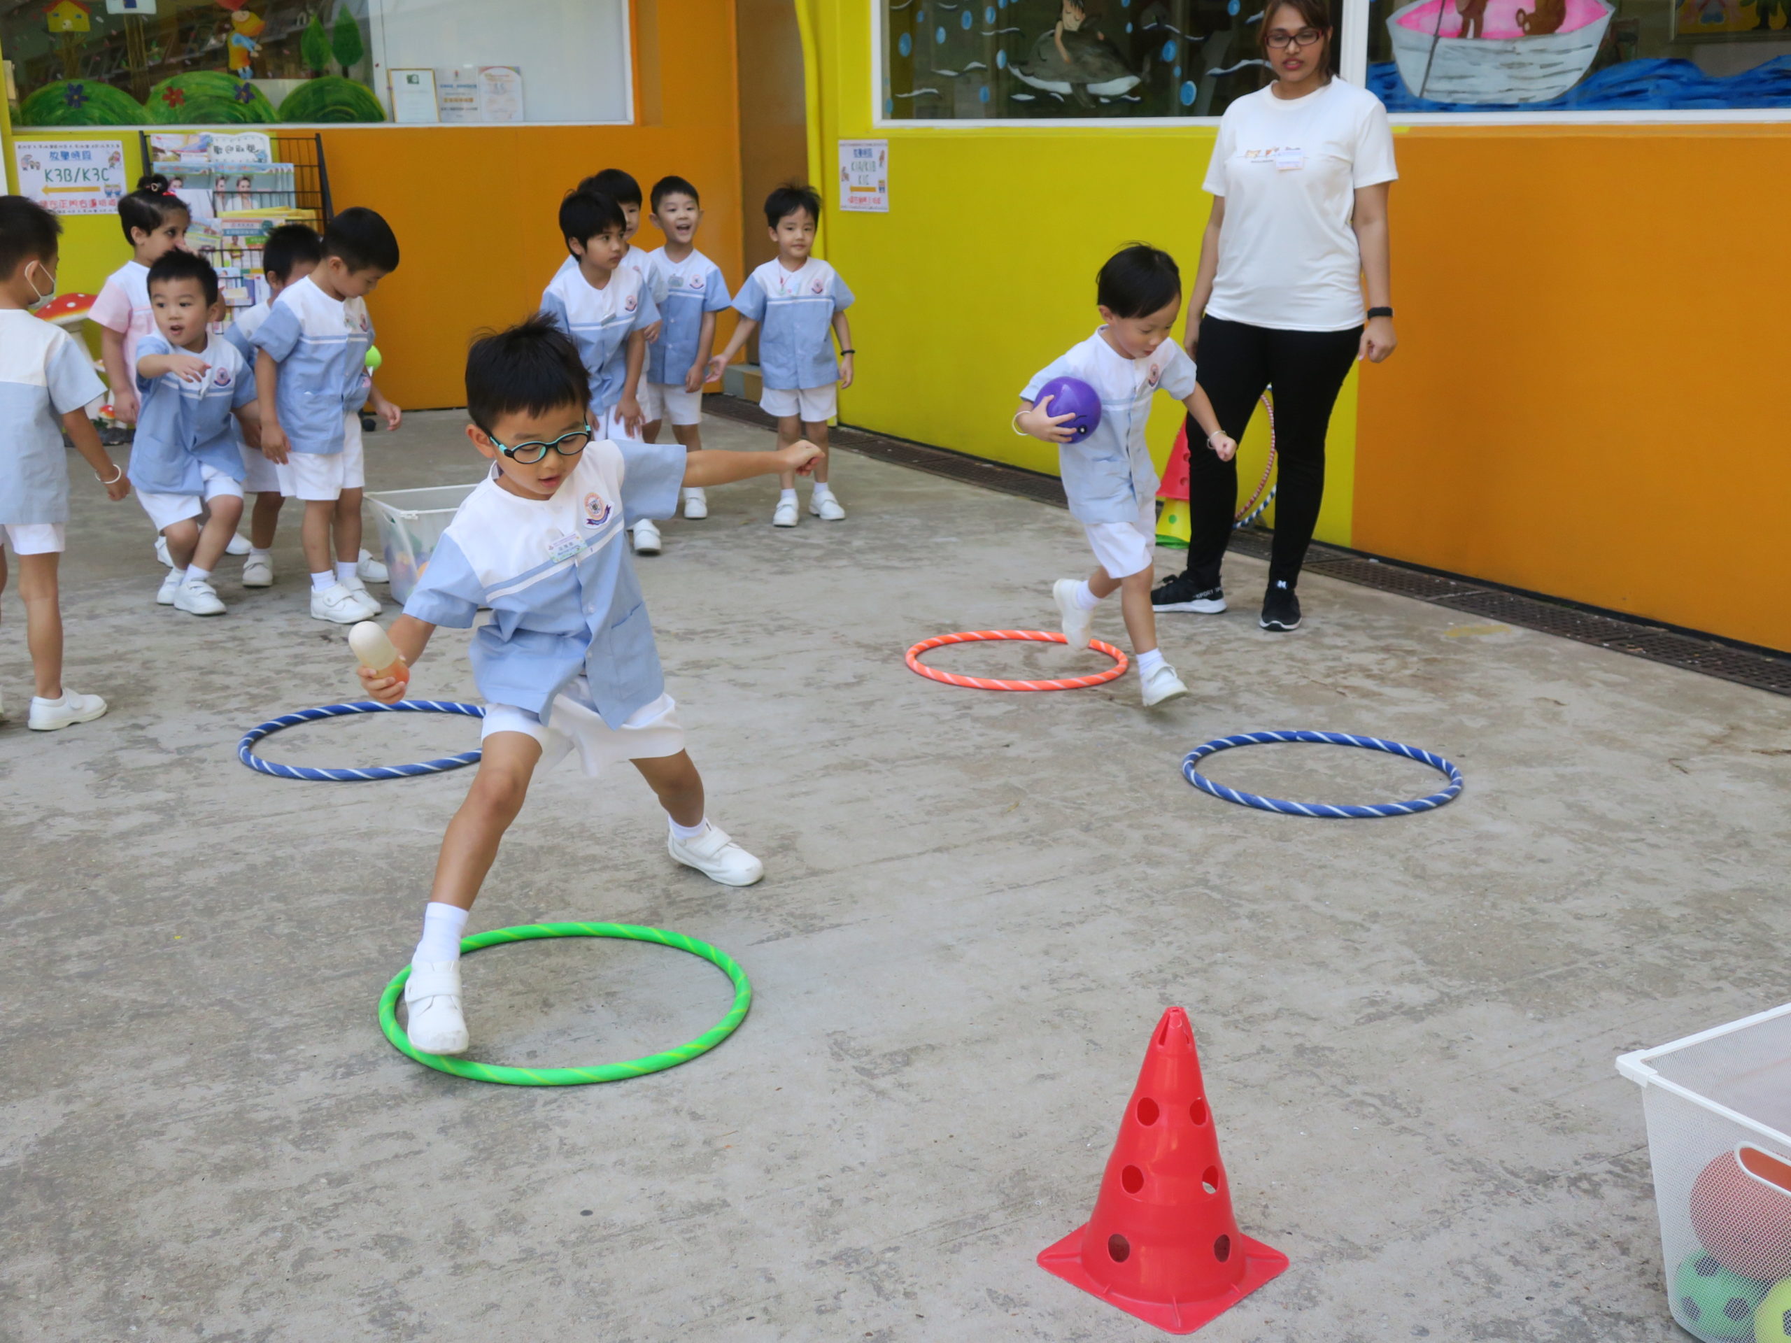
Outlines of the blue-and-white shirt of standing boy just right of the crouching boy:
M358 412L373 389L367 303L331 299L304 276L279 290L249 344L279 365L274 408L292 451L321 457L342 451L344 415Z

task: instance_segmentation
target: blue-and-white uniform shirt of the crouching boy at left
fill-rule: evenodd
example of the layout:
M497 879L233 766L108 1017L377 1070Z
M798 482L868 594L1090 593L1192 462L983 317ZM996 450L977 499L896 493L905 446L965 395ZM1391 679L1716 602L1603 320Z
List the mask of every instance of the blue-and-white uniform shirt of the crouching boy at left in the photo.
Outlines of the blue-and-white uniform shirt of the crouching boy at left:
M140 360L172 353L161 331L136 344ZM202 494L201 466L231 480L244 476L231 412L254 401L254 372L242 351L220 335L206 340L199 358L206 362L206 376L199 381L172 372L136 380L141 410L131 439L131 483L145 494Z

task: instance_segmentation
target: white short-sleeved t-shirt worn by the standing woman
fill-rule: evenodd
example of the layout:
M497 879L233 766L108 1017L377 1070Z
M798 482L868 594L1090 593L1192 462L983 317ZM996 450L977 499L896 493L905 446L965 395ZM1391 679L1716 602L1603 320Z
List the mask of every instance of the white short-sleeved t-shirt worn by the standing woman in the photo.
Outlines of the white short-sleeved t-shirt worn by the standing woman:
M1220 120L1205 188L1225 197L1207 312L1277 331L1363 322L1356 188L1390 183L1393 131L1368 90L1333 79L1304 98L1273 86Z

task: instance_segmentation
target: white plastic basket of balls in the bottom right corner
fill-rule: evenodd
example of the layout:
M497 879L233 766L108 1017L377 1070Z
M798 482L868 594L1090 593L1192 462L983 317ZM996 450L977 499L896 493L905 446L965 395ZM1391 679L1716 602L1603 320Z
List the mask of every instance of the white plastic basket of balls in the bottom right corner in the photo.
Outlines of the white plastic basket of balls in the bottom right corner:
M1673 1318L1705 1343L1791 1339L1791 1003L1617 1071L1642 1089Z

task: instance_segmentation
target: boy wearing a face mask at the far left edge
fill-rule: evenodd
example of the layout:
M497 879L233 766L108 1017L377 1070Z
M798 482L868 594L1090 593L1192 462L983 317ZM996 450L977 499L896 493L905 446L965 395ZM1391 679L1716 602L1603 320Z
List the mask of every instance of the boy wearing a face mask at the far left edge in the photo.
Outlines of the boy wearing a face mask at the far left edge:
M106 713L99 695L63 686L63 611L56 568L66 546L68 453L63 433L113 501L131 492L124 467L100 446L86 405L106 394L88 351L32 315L56 297L56 215L21 195L0 195L0 589L5 552L18 555L25 643L36 693L29 725L50 732Z

